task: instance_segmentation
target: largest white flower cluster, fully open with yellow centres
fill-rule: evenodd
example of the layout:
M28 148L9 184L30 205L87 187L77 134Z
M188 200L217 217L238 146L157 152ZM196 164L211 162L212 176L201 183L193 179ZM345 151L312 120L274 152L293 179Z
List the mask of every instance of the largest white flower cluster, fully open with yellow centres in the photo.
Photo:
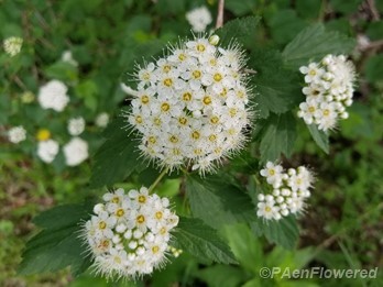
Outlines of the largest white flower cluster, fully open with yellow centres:
M215 42L217 36L214 37ZM220 48L198 37L140 68L130 124L150 159L171 169L190 164L200 174L242 147L249 123L249 90L242 51Z

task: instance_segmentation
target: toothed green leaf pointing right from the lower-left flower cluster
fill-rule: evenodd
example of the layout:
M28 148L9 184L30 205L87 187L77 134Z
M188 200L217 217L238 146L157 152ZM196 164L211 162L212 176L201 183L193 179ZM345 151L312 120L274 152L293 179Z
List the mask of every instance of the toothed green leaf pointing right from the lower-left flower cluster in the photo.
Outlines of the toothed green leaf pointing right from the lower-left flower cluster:
M211 260L223 264L236 264L230 247L217 232L199 219L180 218L174 232L176 246L204 261Z

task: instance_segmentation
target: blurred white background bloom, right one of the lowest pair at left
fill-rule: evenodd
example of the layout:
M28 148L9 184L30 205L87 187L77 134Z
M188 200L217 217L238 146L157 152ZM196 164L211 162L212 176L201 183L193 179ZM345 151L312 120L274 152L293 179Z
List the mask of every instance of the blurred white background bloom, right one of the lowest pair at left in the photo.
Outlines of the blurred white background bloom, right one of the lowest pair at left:
M73 137L63 147L65 162L68 166L76 166L88 158L88 143L79 137Z

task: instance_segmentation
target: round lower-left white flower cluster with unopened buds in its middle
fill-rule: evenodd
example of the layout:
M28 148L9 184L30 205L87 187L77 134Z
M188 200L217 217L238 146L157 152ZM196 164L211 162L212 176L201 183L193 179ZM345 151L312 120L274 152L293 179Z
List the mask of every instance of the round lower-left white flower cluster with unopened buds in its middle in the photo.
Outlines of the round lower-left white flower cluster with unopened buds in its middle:
M106 277L140 277L166 261L171 231L178 217L167 198L149 195L142 187L103 195L94 208L81 236L89 246L96 272Z

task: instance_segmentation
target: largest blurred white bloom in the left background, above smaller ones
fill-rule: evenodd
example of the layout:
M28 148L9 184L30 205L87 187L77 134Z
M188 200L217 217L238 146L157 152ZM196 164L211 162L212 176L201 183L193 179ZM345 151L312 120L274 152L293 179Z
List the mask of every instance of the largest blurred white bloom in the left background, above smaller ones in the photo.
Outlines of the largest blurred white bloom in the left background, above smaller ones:
M69 97L66 95L68 88L59 80L51 80L40 88L39 103L43 109L53 109L62 112Z

